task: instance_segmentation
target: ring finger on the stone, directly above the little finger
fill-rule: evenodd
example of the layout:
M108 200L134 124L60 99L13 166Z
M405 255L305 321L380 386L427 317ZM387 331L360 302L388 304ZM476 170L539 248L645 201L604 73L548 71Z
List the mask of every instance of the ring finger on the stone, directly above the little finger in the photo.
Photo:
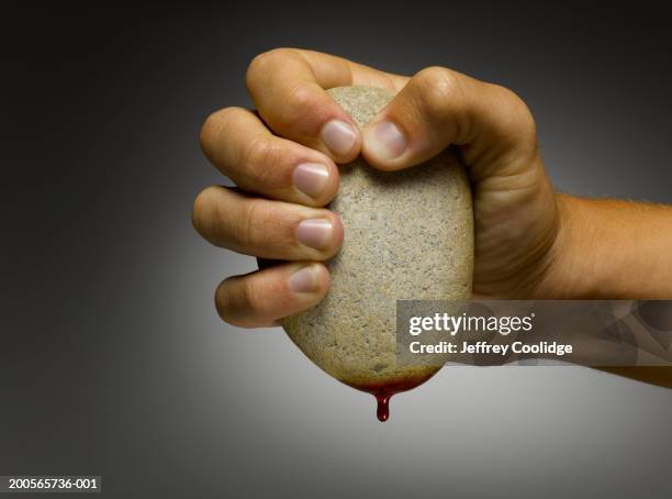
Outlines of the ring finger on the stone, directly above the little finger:
M193 225L215 246L283 260L324 260L343 243L343 223L326 209L209 187L195 199Z

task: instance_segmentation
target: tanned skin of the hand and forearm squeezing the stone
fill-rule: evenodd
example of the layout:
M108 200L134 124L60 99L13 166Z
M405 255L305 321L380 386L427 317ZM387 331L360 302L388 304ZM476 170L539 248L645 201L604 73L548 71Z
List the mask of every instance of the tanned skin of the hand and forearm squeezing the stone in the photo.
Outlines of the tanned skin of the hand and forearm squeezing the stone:
M287 263L225 279L215 293L224 321L272 325L324 298L329 275L321 262L344 236L324 208L338 189L336 164L361 154L376 168L397 170L448 146L473 188L474 297L672 299L672 208L553 192L534 118L511 90L443 67L406 77L293 48L257 56L246 84L258 112L226 108L201 131L203 152L238 187L203 190L193 224L212 244ZM348 85L389 88L395 98L359 130L325 92ZM350 141L329 140L334 120ZM392 130L393 147L381 145L380 130ZM317 192L295 185L302 163L326 169ZM315 219L332 228L318 247L298 240L299 223ZM672 385L667 368L613 370Z

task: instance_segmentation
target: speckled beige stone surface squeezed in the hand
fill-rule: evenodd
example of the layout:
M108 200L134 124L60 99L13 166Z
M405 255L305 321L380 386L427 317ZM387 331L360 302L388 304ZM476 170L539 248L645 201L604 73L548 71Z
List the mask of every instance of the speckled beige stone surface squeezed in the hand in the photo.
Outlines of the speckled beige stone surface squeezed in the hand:
M360 126L392 98L371 87L329 93ZM438 368L396 365L396 300L471 296L473 215L462 167L449 151L396 173L359 158L340 167L329 208L345 225L343 247L327 264L331 290L318 306L282 320L284 330L309 358L350 386L424 381Z

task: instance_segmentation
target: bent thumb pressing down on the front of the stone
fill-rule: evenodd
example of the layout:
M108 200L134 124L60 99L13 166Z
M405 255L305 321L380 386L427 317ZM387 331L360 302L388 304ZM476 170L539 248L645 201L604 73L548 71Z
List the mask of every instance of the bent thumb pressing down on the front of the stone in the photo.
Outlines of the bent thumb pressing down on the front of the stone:
M475 177L485 174L479 166L506 175L536 153L534 120L515 93L439 67L415 75L363 136L362 154L385 170L416 165L451 144L477 167Z

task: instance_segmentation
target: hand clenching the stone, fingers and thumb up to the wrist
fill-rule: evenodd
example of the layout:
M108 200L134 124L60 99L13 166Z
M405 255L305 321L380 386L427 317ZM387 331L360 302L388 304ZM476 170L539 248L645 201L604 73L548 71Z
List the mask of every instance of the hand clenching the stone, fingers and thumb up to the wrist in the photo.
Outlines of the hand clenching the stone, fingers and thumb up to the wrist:
M397 95L359 131L324 90L345 85ZM216 304L224 320L268 325L324 297L326 267L310 262L333 256L344 229L320 207L337 190L335 162L360 153L374 167L392 170L456 145L474 188L474 292L523 296L540 281L558 210L534 121L513 92L445 68L407 78L294 49L255 58L247 86L259 115L227 108L212 114L201 134L206 156L239 189L205 189L193 222L215 245L292 263L222 282Z

